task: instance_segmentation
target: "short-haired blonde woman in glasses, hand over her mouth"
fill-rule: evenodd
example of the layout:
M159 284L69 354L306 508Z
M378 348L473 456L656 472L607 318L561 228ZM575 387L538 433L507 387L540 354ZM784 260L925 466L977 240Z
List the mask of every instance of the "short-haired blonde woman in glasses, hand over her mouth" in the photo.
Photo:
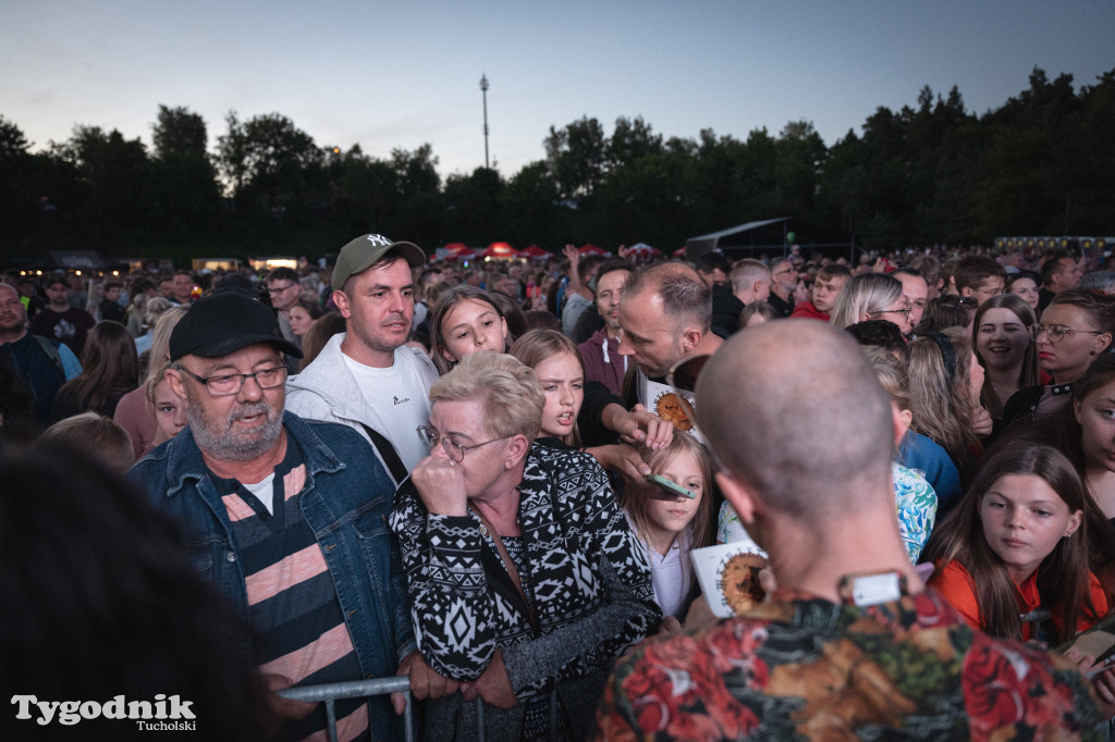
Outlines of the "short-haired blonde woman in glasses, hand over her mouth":
M481 351L429 396L429 456L389 524L418 648L468 687L427 701L427 736L583 739L612 662L661 621L646 555L597 461L535 443L533 370Z

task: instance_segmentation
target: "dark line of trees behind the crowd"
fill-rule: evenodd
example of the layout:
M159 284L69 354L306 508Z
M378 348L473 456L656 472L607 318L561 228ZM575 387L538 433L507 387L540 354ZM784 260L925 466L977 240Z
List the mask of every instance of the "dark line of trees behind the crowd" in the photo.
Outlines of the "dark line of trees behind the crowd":
M857 233L867 248L987 244L998 235L1115 234L1115 70L1074 88L1039 68L1029 88L982 115L959 90L924 87L879 107L862 133L826 146L807 120L745 140L696 138L620 117L550 127L545 157L442 178L430 145L389 156L321 146L280 114L206 123L159 106L152 145L76 126L31 152L0 116L0 238L10 255L50 248L108 256L336 252L380 232L550 250L574 242L666 251L752 219L794 216Z

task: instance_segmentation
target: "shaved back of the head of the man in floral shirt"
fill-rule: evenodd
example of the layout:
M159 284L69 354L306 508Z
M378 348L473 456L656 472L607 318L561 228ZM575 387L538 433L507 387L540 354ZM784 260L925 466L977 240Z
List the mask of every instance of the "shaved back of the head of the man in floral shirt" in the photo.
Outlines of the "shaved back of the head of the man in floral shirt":
M734 334L701 372L697 420L730 476L773 509L815 521L888 506L890 399L855 342L826 324Z

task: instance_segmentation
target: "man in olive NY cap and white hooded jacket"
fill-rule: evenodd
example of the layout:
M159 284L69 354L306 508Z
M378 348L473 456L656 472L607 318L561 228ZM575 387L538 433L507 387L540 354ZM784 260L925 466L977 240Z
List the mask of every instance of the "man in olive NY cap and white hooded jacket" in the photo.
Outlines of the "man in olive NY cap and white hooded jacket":
M410 269L425 261L417 245L378 234L345 245L331 285L348 332L333 335L288 384L289 410L359 431L396 484L429 452L415 430L429 421L437 370L404 345L415 313Z

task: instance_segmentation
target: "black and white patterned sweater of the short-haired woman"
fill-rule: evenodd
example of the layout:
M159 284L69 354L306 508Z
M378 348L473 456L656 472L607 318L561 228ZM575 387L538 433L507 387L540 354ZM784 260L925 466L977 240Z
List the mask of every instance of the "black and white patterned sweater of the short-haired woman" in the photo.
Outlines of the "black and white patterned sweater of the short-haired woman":
M605 676L611 662L661 621L650 566L591 456L535 443L518 491L527 567L520 578L537 632L516 607L510 578L485 573L485 562L501 564L479 518L429 515L409 479L399 488L390 525L415 635L426 662L460 682L479 677L502 647L516 697L556 685L576 724L580 714L591 719L597 699L570 697L563 682Z

